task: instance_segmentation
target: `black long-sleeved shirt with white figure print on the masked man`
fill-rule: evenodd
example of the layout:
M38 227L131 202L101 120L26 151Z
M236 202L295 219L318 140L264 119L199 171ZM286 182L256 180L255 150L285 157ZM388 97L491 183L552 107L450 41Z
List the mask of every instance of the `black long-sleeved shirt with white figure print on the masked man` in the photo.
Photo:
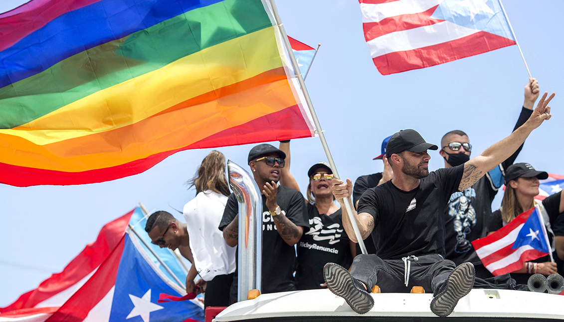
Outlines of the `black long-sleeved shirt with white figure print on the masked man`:
M531 110L523 107L513 130L525 124L531 114ZM523 145L499 166L488 171L473 186L451 195L444 210L446 259L452 260L456 265L464 262L471 262L474 266L482 265L472 241L486 237L493 198L503 185L505 169L515 162L522 147Z

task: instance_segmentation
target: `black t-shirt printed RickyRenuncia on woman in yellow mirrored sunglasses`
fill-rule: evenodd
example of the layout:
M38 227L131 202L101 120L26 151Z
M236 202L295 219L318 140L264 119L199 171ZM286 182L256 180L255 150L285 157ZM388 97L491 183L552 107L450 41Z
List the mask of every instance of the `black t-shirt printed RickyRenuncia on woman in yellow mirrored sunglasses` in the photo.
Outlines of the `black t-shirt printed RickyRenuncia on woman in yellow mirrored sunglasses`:
M298 290L320 289L323 266L336 263L349 268L352 263L349 237L343 228L342 211L331 215L319 214L314 204L307 204L310 229L304 230L298 242L298 265L296 288Z

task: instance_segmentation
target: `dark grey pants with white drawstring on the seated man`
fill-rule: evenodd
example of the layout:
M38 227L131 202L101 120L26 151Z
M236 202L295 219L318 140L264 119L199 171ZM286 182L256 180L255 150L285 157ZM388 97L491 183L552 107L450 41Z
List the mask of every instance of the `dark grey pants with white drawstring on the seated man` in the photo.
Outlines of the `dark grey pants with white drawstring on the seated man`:
M361 254L352 261L350 272L368 291L378 285L382 293L409 293L413 286L422 286L425 293L435 293L455 267L455 263L439 254L409 256L404 260Z

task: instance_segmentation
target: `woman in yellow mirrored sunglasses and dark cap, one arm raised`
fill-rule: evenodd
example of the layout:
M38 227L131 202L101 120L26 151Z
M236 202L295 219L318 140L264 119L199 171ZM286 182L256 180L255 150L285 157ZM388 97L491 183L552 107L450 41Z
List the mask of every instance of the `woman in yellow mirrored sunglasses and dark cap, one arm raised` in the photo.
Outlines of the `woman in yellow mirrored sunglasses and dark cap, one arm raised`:
M290 173L289 141L280 143L286 153L286 167L282 169L280 184L299 190ZM298 290L325 288L323 266L338 263L350 267L355 243L349 240L343 228L341 208L334 203L333 171L320 161L307 171L309 184L306 191L307 215L310 229L304 230L297 244L296 288Z

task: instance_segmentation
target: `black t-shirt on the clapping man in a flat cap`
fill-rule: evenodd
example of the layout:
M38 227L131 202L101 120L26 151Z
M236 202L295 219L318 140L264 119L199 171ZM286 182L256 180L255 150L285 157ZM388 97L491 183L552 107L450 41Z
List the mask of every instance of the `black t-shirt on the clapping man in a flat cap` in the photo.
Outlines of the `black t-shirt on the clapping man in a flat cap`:
M278 186L276 203L280 206L282 213L292 223L302 226L303 231L310 227L307 220L306 204L303 196L297 190ZM266 206L266 197L262 195L262 293L274 293L296 289L294 280L294 260L296 250L294 246L288 245L276 229L274 219ZM231 223L239 213L239 203L235 194L230 194L227 199L225 210L219 230L223 230ZM236 257L238 258L238 256ZM233 275L233 285L237 289L237 270Z

